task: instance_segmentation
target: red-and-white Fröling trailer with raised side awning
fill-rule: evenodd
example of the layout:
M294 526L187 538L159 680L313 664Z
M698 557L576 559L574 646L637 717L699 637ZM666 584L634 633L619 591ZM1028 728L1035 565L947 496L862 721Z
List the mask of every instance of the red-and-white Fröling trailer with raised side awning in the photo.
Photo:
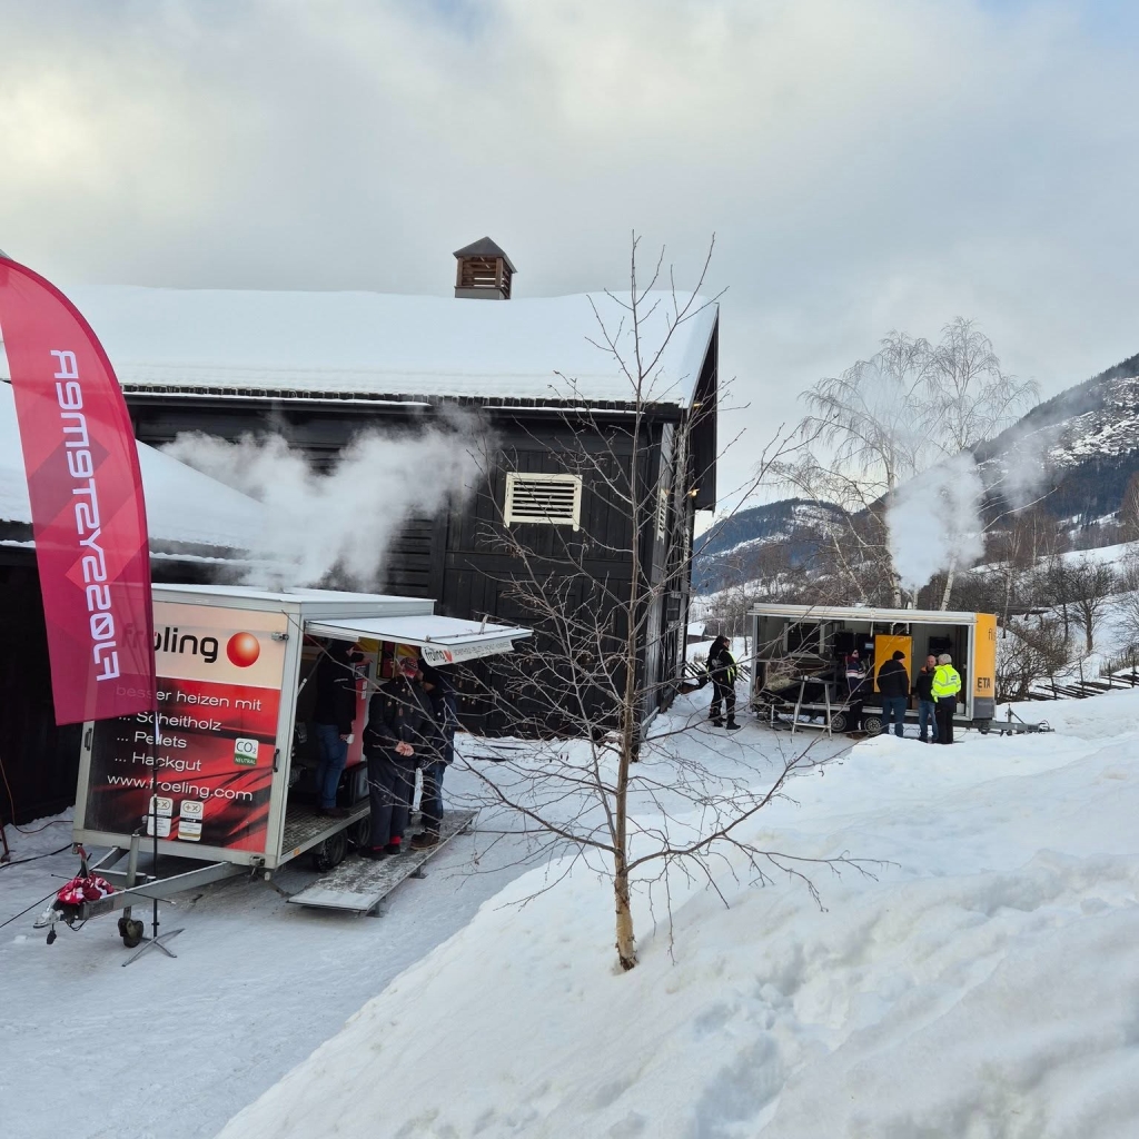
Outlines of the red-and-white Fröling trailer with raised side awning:
M531 634L439 616L431 600L309 589L155 585L154 617L157 730L147 712L83 729L74 841L112 847L93 869L121 888L85 904L74 920L233 874L269 879L305 852L330 869L349 837L367 827L363 727L368 697L393 650L418 650L427 663L446 666L508 653ZM321 652L318 638L363 647L338 800L344 818L319 814L303 786L303 753L313 741L302 713L311 707L305 686ZM159 857L204 865L138 882L140 849L150 852L155 837ZM114 869L128 854L126 869ZM128 944L141 936L136 926L120 921Z

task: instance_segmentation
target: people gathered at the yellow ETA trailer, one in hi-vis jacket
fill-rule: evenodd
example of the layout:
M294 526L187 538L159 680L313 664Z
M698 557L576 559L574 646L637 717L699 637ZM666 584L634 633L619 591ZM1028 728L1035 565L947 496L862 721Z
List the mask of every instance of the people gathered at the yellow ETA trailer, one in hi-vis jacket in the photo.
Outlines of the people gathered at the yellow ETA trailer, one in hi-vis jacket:
M926 657L925 665L915 677L910 686L909 670L906 667L906 654L898 650L878 670L878 694L882 697L882 731L890 731L894 726L894 735L904 735L906 710L910 696L918 702L918 739L923 744L952 744L953 715L957 712L957 698L961 690L961 674L953 667L953 658L949 653ZM849 710L852 728L862 727L863 705L869 677L858 650L852 652L845 661L845 675Z

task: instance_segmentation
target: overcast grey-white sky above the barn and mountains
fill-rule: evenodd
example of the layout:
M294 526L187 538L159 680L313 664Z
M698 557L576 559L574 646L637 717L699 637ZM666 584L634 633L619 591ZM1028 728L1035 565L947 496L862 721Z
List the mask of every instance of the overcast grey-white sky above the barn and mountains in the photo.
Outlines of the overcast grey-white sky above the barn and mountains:
M0 247L55 279L517 296L689 284L738 478L891 329L1044 394L1139 352L1131 0L0 0Z

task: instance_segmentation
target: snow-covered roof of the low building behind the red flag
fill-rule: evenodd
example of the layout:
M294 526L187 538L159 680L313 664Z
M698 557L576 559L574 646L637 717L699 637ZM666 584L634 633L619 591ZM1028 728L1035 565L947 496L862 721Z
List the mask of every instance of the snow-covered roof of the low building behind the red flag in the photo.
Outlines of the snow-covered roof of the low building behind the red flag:
M264 528L260 502L145 443L138 449L151 544L243 550ZM0 519L32 522L10 384L0 384Z

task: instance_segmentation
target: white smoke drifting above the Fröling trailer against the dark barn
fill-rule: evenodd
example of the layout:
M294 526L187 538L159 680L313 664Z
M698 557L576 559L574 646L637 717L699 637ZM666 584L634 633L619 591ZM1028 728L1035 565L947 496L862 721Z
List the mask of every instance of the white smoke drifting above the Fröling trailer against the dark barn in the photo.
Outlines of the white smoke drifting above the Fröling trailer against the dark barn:
M375 588L391 544L413 515L432 516L474 491L486 448L475 417L450 417L411 433L358 435L318 470L279 435L237 443L200 432L163 450L265 506L265 530L249 538L263 562L246 584Z

